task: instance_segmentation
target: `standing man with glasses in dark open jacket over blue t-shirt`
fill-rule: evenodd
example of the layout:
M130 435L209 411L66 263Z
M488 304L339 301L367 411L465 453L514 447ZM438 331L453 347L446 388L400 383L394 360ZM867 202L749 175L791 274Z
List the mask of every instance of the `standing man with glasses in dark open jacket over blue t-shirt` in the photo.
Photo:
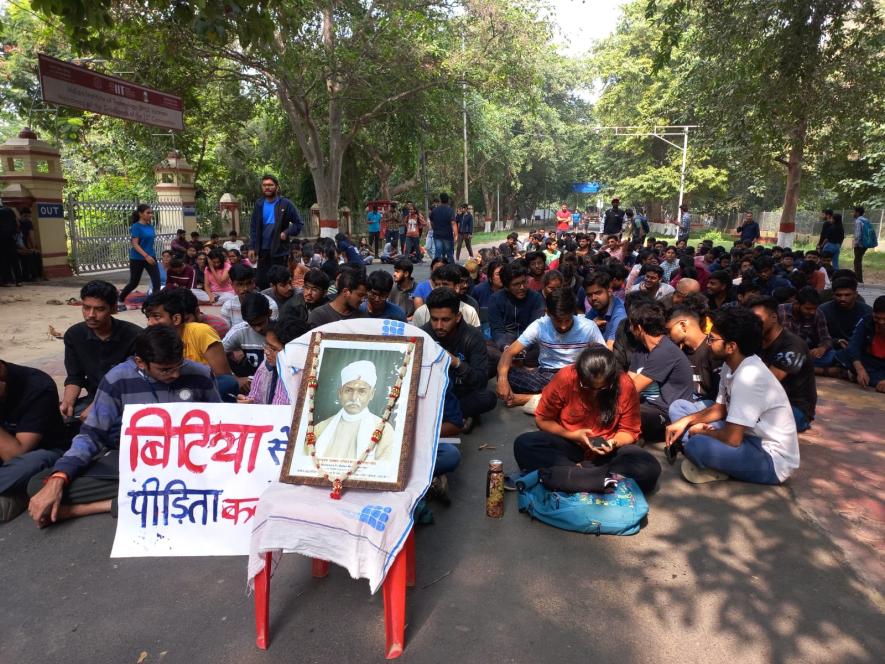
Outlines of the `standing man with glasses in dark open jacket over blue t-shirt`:
M257 257L256 281L258 288L269 286L267 271L271 265L286 265L289 258L289 240L301 232L304 225L298 210L288 198L280 196L280 183L273 175L261 178L264 198L255 203L249 233L249 260Z

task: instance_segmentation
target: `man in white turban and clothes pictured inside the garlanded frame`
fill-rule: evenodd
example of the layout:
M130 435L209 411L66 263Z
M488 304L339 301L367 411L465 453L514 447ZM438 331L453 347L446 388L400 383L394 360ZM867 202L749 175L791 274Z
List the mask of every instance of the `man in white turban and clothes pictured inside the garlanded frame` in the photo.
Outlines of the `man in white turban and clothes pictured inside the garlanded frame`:
M369 410L377 382L375 365L367 360L351 362L341 370L341 408L314 427L318 457L356 459L362 455L371 443L372 432L381 424L381 418ZM393 427L385 422L381 440L366 460L389 461L393 441Z

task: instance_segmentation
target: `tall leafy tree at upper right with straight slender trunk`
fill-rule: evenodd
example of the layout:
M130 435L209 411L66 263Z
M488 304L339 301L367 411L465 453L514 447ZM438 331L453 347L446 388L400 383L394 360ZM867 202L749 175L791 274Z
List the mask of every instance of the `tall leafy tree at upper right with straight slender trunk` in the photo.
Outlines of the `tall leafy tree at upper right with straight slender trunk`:
M885 30L875 0L648 0L656 67L689 52L699 123L786 171L778 243L792 244L806 163L881 117Z

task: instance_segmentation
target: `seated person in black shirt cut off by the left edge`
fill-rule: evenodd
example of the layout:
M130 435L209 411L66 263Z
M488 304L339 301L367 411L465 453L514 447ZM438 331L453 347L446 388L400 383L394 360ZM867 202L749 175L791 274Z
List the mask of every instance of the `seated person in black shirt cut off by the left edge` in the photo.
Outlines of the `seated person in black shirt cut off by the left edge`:
M0 360L0 522L28 504L28 480L67 447L58 388L47 374Z

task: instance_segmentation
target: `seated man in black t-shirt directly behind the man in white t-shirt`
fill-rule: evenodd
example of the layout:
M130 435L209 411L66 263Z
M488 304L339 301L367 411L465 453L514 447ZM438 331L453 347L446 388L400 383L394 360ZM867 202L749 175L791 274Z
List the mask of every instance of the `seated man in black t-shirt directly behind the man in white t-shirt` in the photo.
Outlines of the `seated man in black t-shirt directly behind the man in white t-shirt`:
M814 362L808 344L780 324L774 298L757 298L748 306L762 321L762 348L758 355L784 386L796 418L796 430L802 433L811 427L817 406Z

